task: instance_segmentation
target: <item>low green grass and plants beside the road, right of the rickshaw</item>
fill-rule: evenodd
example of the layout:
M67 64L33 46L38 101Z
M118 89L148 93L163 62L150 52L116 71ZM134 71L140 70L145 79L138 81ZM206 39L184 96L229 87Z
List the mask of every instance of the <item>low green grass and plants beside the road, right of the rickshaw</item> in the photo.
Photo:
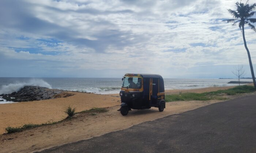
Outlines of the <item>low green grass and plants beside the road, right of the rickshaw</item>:
M255 92L256 89L253 86L237 86L227 90L218 90L212 91L208 93L180 93L180 94L172 94L172 95L165 95L166 102L172 101L207 101L211 99L218 99L218 100L226 100L225 97L219 97L221 94L227 95L236 95L236 94L243 94L243 93L252 93Z

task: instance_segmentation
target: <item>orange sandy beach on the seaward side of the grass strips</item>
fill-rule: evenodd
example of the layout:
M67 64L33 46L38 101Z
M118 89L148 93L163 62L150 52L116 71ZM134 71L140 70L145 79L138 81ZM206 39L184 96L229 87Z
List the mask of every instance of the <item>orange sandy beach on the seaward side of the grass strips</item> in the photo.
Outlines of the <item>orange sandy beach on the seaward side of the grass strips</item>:
M231 87L209 87L203 89L166 90L165 92L166 94L180 92L203 93L229 88ZM67 117L64 110L68 106L76 107L76 111L79 112L93 107L103 108L120 105L119 94L68 93L75 95L67 98L1 104L0 133L4 133L7 126L18 127L28 123L41 124L60 121Z

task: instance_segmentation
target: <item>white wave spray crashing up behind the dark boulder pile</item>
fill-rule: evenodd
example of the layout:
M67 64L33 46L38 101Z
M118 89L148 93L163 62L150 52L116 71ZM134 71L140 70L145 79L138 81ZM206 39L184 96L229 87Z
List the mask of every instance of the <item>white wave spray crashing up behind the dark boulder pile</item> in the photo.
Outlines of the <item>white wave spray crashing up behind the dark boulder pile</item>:
M0 89L0 94L11 94L14 91L19 91L25 86L40 86L40 87L47 87L52 89L49 83L41 80L41 79L31 79L28 82L19 82L19 83L10 83L9 85L3 85Z

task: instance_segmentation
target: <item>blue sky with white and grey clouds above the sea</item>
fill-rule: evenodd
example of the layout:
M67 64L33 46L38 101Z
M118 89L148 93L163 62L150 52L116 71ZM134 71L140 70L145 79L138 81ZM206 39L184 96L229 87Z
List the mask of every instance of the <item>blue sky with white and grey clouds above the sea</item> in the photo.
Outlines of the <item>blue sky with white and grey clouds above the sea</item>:
M222 22L236 2L1 0L0 77L236 78L238 64L251 77L239 27ZM256 32L245 38L256 71Z

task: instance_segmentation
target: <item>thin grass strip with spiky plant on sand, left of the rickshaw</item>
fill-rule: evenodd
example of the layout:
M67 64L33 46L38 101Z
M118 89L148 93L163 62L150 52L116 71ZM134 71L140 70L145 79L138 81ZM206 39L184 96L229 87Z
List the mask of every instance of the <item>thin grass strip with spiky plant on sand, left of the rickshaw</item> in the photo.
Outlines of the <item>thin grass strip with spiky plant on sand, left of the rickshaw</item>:
M70 107L70 106L69 106ZM71 108L71 107L70 107ZM79 113L91 113L91 115L97 115L98 113L105 113L105 112L108 112L109 110L105 109L105 108L92 108L90 110L84 110L84 111L80 111L80 112L77 112L74 114L79 114ZM73 114L73 115L74 115ZM66 119L72 119L72 118L66 118ZM46 126L46 125L53 125L53 124L56 124L56 123L60 123L60 122L63 122L65 119L61 120L61 121L57 121L57 122L47 122L47 123L42 123L42 124L25 124L23 126L19 126L19 127L11 127L11 126L8 126L5 128L5 131L7 133L14 133L14 132L22 132L24 130L27 130L27 129L32 129L34 127L40 127L40 126Z

